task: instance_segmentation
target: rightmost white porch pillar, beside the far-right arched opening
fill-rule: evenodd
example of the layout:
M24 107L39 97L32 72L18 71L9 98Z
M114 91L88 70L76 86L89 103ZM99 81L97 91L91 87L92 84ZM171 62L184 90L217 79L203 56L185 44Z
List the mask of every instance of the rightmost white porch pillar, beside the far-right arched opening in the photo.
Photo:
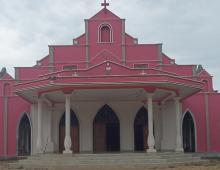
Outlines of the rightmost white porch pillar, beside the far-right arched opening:
M180 108L180 98L175 97L174 103L175 103L175 109L176 109L176 152L183 152L183 142L182 142L182 133L181 133L181 120L182 120L182 114L181 114L181 108Z

